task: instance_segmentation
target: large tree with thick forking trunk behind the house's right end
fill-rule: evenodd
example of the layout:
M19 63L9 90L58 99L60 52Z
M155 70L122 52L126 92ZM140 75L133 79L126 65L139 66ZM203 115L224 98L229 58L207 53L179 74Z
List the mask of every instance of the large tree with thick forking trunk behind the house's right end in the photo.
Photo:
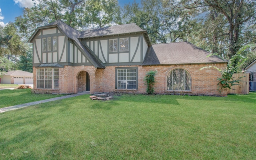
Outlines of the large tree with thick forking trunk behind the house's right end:
M216 10L216 12L223 14L228 25L228 57L232 57L241 47L241 27L250 21L255 24L256 2L254 0L181 0L176 7L187 9L204 8L204 11Z

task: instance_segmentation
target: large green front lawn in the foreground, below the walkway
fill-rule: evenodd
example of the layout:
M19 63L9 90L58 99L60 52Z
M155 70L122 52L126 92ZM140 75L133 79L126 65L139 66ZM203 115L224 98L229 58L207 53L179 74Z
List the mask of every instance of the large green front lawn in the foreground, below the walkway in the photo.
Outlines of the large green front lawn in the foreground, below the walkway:
M256 93L89 95L4 112L1 159L253 160Z

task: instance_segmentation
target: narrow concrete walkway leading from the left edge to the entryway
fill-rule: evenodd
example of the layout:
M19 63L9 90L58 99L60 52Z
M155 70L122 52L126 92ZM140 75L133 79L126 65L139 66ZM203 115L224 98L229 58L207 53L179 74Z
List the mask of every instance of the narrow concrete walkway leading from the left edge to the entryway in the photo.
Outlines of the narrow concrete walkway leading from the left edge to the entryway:
M88 94L88 93L83 92L83 93L78 93L78 94L71 94L71 95L62 96L62 97L55 97L55 98L50 98L50 99L46 99L46 100L40 100L40 101L36 101L36 102L30 102L30 103L25 103L25 104L19 104L19 105L16 105L16 106L0 108L0 113L11 111L11 110L16 110L16 109L24 108L24 107L28 107L28 106L33 106L33 105L40 104L40 103L51 102L51 101L54 101L54 100L62 100L64 98L81 96L81 95L84 95L84 94Z

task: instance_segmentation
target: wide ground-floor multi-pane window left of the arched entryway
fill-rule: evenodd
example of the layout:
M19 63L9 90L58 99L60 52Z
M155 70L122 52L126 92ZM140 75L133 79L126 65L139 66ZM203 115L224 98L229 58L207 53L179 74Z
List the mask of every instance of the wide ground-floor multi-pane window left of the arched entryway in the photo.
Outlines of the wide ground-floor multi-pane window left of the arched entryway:
M36 88L59 88L59 68L37 68Z

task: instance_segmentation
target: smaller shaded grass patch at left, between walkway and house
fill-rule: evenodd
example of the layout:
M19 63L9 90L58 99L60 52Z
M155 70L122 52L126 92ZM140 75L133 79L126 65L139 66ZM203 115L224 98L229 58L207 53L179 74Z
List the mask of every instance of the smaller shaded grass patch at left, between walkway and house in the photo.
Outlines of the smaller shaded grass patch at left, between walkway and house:
M0 90L0 108L45 100L63 95L34 94L31 89Z

